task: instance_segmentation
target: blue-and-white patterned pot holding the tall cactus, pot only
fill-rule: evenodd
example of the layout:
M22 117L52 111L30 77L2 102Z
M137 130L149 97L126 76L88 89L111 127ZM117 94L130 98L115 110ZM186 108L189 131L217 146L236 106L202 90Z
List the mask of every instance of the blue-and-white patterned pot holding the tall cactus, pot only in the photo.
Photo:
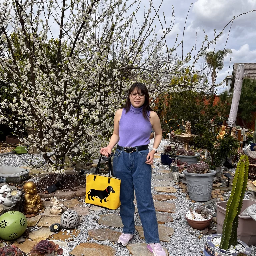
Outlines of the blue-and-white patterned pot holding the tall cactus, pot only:
M226 252L218 247L216 247L213 243L212 243L212 239L213 238L217 238L220 237L221 234L212 234L207 236L206 238L206 243L204 245L204 256L236 256L238 255L237 253L231 253L231 252ZM245 247L245 255L251 255L251 248L244 243L241 240L237 240L237 242L239 244L242 244L243 247Z

